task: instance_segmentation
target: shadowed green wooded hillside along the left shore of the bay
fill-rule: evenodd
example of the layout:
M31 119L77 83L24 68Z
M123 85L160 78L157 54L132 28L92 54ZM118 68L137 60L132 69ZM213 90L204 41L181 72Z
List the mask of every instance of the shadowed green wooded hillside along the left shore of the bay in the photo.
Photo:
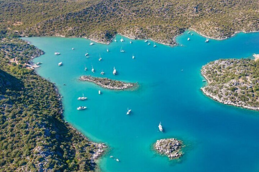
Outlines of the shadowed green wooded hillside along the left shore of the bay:
M43 51L1 37L0 171L95 170L93 160L105 146L66 124L55 85L24 66Z

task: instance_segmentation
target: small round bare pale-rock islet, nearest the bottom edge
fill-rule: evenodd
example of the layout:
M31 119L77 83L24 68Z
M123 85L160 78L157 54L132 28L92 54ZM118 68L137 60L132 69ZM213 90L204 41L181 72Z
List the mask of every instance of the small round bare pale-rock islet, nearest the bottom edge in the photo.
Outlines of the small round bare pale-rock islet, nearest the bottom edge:
M156 140L154 148L156 151L162 155L166 155L169 159L178 159L184 153L182 152L182 141L177 139L161 139Z

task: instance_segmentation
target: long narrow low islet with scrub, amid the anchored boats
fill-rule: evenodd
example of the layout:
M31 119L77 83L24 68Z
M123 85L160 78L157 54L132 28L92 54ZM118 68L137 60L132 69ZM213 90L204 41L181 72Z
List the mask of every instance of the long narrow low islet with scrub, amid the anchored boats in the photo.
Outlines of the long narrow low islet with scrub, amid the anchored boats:
M124 90L124 89L133 88L134 86L136 86L135 83L125 83L122 81L112 80L108 78L98 78L90 75L80 76L79 79L82 81L93 82L103 88L107 88L111 90Z

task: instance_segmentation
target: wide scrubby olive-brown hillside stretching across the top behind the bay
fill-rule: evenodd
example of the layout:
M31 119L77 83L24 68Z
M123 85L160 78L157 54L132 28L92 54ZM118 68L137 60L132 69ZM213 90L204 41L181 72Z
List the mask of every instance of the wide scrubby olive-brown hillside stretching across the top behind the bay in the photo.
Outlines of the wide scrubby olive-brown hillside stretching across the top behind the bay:
M108 43L121 33L175 45L187 28L217 39L259 30L259 0L1 0L0 7L2 28L23 36Z

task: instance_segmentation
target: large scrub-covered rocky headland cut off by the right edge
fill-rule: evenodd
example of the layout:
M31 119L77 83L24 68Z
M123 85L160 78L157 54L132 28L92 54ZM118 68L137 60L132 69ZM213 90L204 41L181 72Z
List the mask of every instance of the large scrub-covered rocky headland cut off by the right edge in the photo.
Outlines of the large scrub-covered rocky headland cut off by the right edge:
M201 90L218 102L259 110L259 61L221 59L204 65L208 85Z

